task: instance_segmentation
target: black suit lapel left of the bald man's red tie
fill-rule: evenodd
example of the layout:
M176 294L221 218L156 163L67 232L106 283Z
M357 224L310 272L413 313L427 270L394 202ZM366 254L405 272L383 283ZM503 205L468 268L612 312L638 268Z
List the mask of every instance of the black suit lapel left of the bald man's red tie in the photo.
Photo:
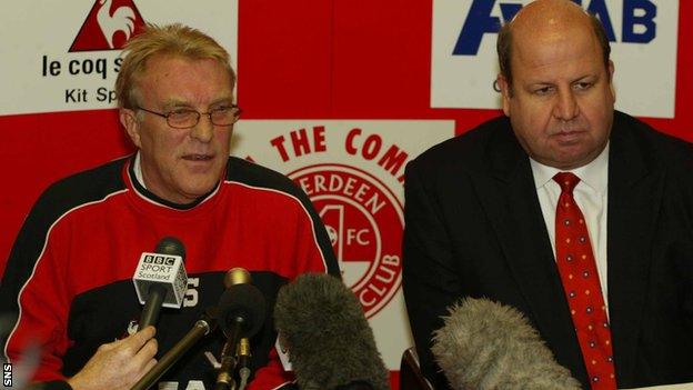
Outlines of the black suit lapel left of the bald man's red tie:
M489 142L489 176L480 176L482 204L505 256L526 314L535 322L556 360L583 383L586 373L563 287L542 217L530 161L510 130L499 129ZM488 196L486 196L488 194Z

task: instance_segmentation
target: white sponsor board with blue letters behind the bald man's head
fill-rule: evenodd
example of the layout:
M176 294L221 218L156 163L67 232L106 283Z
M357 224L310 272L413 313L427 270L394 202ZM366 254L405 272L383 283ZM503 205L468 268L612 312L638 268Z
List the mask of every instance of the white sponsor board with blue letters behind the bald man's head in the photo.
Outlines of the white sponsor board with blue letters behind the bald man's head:
M673 118L679 1L572 1L596 16L612 42L616 109L634 116ZM529 3L530 0L433 1L431 107L500 108L500 94L493 88L499 72L498 32ZM656 77L643 78L643 73L653 71Z

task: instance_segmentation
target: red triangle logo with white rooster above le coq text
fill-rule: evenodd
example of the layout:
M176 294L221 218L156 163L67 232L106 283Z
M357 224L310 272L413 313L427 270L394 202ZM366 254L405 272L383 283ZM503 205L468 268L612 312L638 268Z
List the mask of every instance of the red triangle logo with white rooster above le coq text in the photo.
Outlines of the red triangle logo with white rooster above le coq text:
M70 52L119 50L143 29L144 19L132 0L97 0Z

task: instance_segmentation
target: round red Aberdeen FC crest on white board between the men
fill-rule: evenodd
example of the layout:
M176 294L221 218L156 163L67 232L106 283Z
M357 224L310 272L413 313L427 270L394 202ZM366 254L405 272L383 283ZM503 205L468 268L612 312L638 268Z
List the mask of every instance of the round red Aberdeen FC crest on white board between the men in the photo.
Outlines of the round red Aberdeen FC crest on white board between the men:
M368 318L390 302L402 279L402 204L382 181L339 163L289 173L322 218L344 281Z

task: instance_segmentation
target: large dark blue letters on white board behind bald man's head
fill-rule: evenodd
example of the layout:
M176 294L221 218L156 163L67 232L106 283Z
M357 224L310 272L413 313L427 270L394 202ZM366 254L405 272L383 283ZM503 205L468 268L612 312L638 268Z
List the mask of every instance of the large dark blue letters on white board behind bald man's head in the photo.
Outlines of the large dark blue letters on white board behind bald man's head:
M606 37L611 42L616 41L613 23L606 0L572 0L594 13L604 26ZM656 6L651 0L622 0L621 41L625 43L647 43L656 37L655 17ZM486 33L498 33L501 29L501 18L493 16L495 0L473 0L470 11L462 26L462 31L453 49L453 56L476 56L481 40ZM512 18L522 9L522 4L500 2L499 8L503 22Z

